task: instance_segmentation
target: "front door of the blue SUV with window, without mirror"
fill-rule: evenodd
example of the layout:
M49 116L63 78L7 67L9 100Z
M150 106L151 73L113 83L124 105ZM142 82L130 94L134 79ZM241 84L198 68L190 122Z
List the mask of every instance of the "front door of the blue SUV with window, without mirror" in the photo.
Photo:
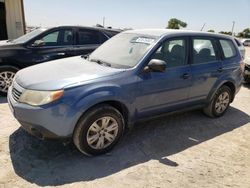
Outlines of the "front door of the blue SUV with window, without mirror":
M138 83L139 116L167 112L185 106L191 86L188 39L168 39L151 59L167 63L165 72L141 73Z

